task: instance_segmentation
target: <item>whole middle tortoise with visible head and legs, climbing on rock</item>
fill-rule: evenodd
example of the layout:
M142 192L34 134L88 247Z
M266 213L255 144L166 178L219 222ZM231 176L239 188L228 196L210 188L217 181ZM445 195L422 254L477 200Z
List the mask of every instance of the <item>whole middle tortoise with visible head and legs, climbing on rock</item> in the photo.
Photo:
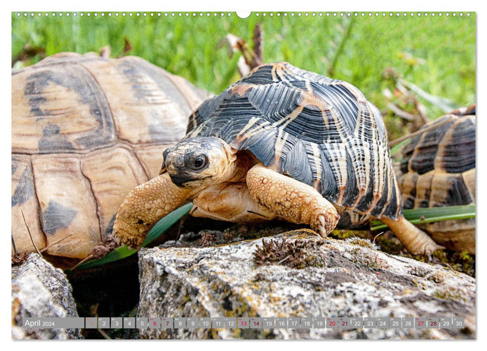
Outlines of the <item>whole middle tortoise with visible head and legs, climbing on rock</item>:
M259 66L204 101L158 177L120 207L114 234L139 246L161 217L280 218L326 237L381 219L413 253L438 246L402 215L382 116L353 85L288 63Z

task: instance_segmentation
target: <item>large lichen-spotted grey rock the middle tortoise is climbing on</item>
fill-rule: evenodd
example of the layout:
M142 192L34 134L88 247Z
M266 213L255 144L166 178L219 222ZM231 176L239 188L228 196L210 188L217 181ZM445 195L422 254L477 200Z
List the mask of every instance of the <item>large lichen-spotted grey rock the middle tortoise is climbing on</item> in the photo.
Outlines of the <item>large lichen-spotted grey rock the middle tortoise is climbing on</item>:
M262 242L300 244L287 258L256 264ZM286 244L287 245L287 244ZM212 247L142 249L138 316L444 317L463 329L140 329L141 338L475 338L474 278L378 251L363 239L321 241L307 231ZM299 262L298 262L299 263Z

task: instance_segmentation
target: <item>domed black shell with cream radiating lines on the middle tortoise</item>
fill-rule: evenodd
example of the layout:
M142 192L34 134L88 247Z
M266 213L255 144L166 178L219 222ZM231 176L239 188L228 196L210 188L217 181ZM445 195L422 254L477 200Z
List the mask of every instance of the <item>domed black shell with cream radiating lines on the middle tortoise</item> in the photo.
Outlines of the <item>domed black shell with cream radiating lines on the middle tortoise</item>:
M382 116L347 82L286 62L259 66L190 116L186 138L195 136L248 150L354 213L402 212ZM349 225L345 214L340 223Z

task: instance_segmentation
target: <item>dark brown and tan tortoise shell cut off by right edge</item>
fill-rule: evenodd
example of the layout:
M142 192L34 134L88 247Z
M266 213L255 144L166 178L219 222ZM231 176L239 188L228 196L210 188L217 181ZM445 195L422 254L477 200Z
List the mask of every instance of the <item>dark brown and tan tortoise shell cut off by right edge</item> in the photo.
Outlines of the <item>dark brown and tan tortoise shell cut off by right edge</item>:
M404 208L475 203L475 105L427 123L402 149L398 170ZM446 248L475 253L475 219L426 224Z

